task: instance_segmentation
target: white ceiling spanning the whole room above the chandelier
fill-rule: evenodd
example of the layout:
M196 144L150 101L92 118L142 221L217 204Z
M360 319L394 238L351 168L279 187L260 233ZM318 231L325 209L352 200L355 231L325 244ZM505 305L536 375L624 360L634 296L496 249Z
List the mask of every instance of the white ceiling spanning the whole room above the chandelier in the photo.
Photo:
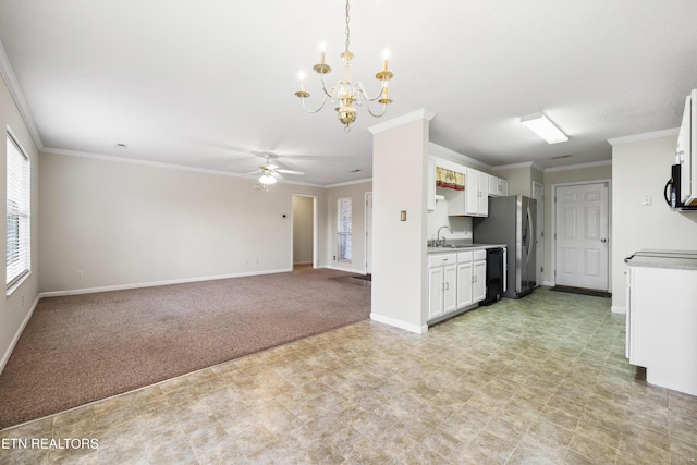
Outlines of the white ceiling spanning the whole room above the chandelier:
M367 127L436 113L430 140L490 166L609 160L608 138L680 125L697 87L695 0L353 0L353 75L382 119L302 110L297 71L320 95L317 46L339 77L343 0L0 0L0 41L46 149L247 172L273 150L292 181L371 176ZM568 136L518 124L543 112ZM127 144L127 149L115 148ZM563 159L553 157L572 155ZM354 170L362 170L353 172Z

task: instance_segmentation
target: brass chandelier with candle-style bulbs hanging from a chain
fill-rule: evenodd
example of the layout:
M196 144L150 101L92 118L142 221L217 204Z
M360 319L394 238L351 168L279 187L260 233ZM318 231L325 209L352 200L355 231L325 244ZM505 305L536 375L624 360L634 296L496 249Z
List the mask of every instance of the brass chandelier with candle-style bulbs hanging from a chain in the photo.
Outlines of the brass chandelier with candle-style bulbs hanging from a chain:
M295 95L303 100L303 108L309 113L317 113L325 107L325 103L327 103L328 100L330 100L334 105L338 105L334 110L337 110L339 121L341 121L344 125L345 132L351 131L351 123L356 121L356 109L354 105L363 106L365 103L370 115L380 118L386 113L388 103L392 102L392 100L388 96L388 81L392 78L392 73L388 71L389 57L387 51L382 54L382 71L378 72L375 75L376 79L382 83L380 93L376 97L370 98L368 96L360 81L356 81L355 83L351 81L351 62L354 59L354 54L348 50L351 39L351 30L348 28L351 16L348 13L348 0L346 0L346 49L339 56L344 64L343 79L338 81L333 86L327 88L327 85L325 83L325 74L331 73L331 66L325 63L325 48L323 46L320 46L320 60L319 63L313 66L313 70L315 70L315 72L319 74L322 84L325 97L322 98L321 105L316 109L307 108L307 106L305 105L305 99L309 97L309 93L305 90L305 73L302 70L299 73L301 89L295 93ZM382 109L379 112L374 112L372 108L370 108L370 103L375 102L376 100L378 101L378 103L382 105Z

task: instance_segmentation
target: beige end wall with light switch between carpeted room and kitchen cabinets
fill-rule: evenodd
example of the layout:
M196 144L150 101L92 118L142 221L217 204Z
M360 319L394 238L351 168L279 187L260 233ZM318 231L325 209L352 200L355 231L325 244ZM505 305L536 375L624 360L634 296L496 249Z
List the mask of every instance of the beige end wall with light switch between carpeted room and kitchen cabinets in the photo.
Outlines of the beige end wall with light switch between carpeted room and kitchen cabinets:
M420 114L420 115L418 115ZM375 320L427 330L426 168L429 123L421 112L371 129ZM395 169L399 167L399 169ZM406 221L400 212L406 211Z

